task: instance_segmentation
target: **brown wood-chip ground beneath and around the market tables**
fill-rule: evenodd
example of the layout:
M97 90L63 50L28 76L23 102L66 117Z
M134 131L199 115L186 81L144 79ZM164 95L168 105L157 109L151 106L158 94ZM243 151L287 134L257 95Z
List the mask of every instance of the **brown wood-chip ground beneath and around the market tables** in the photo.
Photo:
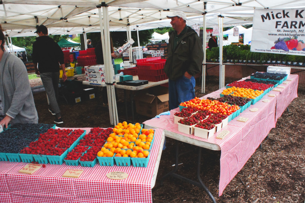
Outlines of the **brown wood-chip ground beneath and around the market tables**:
M81 79L81 78L80 78ZM226 78L226 84L239 80ZM39 84L39 79L30 80L31 85ZM219 86L217 77L208 77L206 93L216 91ZM100 92L100 90L99 90ZM196 96L201 97L201 82L197 81ZM125 121L123 91L117 90L117 108L119 121ZM54 118L48 112L45 92L34 93L34 100L40 123L53 123ZM102 99L89 100L70 105L63 100L59 107L63 115L63 124L59 127L112 127L109 122L107 107L98 106ZM218 197L220 174L219 151L202 149L201 178L209 188L217 203L288 203L304 202L305 180L305 145L304 119L305 85L299 85L298 98L288 106L276 123L276 128L269 132L269 139L262 142L262 149L257 149L246 165L231 180L223 195ZM130 115L130 103L128 114ZM128 118L131 120L131 116ZM149 117L135 114L135 122L142 123ZM160 184L162 176L171 171L174 160L174 140L167 138L167 148L163 150L152 198L155 203L165 202L212 202L206 192L199 187L169 177ZM196 147L179 143L181 150L191 150L179 157L178 172L196 180ZM192 157L192 158L190 158Z

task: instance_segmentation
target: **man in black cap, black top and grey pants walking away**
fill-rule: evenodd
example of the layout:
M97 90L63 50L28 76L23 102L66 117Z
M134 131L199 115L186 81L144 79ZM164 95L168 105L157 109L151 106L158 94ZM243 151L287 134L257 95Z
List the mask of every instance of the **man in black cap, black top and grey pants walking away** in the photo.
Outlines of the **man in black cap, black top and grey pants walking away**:
M48 36L48 28L40 25L35 32L38 34L36 42L33 43L33 63L35 72L40 75L41 81L48 95L51 108L49 111L56 115L54 122L63 123L61 118L58 100L58 82L59 82L59 64L63 70L63 82L66 81L66 69L63 57L63 51L59 45ZM38 67L37 67L38 64Z

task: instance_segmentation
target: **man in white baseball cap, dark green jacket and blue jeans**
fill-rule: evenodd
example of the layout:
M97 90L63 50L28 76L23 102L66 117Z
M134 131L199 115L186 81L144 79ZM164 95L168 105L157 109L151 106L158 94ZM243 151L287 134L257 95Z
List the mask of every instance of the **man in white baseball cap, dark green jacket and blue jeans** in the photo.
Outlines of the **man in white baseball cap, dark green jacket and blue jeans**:
M168 33L167 60L164 71L167 74L169 110L181 102L195 98L194 75L201 71L203 62L202 42L191 27L186 25L186 15L176 11L167 16L174 31Z

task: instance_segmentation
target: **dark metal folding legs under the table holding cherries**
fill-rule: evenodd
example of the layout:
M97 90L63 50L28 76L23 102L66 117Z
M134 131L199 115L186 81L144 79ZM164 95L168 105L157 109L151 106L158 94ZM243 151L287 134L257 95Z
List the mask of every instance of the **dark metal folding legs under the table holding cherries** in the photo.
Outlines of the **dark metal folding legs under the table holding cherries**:
M178 155L179 155L179 145L178 145L178 140L176 140L176 155L175 155L176 156L176 163L175 163L175 168L174 168L173 171L167 173L165 176L162 177L161 185L163 185L163 179L164 178L166 178L167 176L173 176L175 178L184 180L185 182L191 183L192 185L203 188L206 191L206 193L209 195L209 197L211 198L213 203L216 203L215 198L211 194L210 190L206 187L206 185L202 182L201 177L200 177L201 147L199 147L199 149L198 149L198 158L197 158L197 179L198 179L199 182L188 179L188 178L186 178L184 176L181 176L181 175L176 173L177 170L178 170Z

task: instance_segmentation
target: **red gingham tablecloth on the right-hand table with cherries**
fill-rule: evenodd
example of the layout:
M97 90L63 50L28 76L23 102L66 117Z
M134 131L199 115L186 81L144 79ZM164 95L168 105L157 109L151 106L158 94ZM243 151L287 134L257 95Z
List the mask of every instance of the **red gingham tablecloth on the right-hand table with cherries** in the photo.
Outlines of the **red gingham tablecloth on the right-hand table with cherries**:
M250 77L247 77L250 78ZM160 118L152 118L145 121L145 125L154 126L180 135L184 135L195 140L205 141L219 145L221 148L220 158L220 178L219 178L219 196L222 195L224 188L230 183L234 176L242 169L248 159L255 152L260 143L268 135L268 132L275 127L277 118L279 118L285 111L289 103L297 97L298 75L289 75L292 79L289 84L281 84L285 86L281 92L271 91L267 93L260 101L251 105L239 116L229 122L224 129L230 133L223 139L217 139L214 134L208 140L187 135L178 131L178 125L174 124L174 113L179 111L179 108L170 111L170 115L162 115ZM242 78L241 80L245 80ZM219 89L215 92L203 96L201 99L207 97L218 98L220 93L225 88ZM268 96L275 94L275 97ZM269 102L262 100L268 99ZM249 111L251 108L258 108L257 112ZM239 117L249 118L247 122L237 121ZM166 132L165 132L166 136ZM178 138L177 138L178 139ZM182 141L182 140L181 140Z

